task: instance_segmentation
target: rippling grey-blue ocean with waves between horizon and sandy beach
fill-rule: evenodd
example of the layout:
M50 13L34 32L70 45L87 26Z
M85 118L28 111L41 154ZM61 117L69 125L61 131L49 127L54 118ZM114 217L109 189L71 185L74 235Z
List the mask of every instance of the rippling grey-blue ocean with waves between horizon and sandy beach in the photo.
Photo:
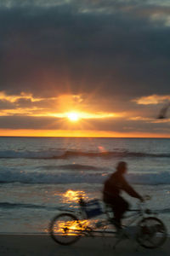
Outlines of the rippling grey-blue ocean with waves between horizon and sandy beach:
M63 208L77 211L77 195L102 199L118 161L127 181L170 230L170 139L0 137L0 232L46 233ZM138 200L123 193L135 207Z

